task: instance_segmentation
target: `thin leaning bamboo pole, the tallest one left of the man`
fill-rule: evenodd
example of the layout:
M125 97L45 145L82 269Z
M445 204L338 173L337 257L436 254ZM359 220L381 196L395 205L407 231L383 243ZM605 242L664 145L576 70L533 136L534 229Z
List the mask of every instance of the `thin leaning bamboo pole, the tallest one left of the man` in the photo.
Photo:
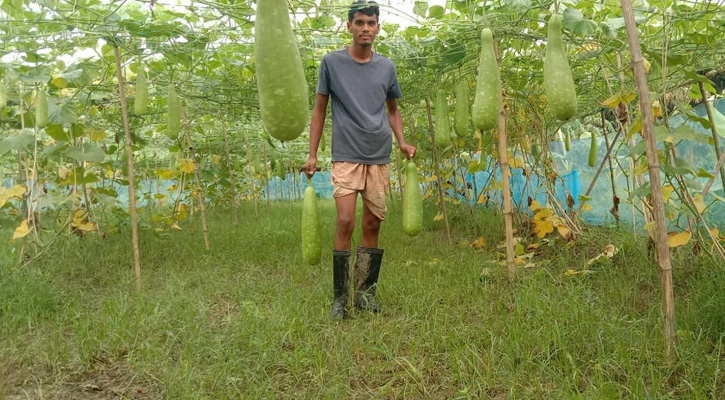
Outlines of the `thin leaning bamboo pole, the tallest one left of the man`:
M131 245L133 246L133 263L136 274L136 292L141 293L141 255L138 249L138 213L136 211L136 181L133 171L133 146L131 145L131 128L128 126L128 107L126 106L126 91L123 86L121 74L121 53L118 46L113 46L116 59L116 78L118 78L118 94L121 97L121 117L123 131L126 135L126 162L128 165L128 206L131 211Z

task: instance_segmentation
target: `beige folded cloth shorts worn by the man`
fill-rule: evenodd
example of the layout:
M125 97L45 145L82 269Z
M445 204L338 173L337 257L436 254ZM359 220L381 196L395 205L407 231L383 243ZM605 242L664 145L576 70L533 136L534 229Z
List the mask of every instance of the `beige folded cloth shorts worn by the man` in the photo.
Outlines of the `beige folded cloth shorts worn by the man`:
M332 197L360 193L363 204L381 221L385 219L385 193L389 182L388 164L367 165L347 161L332 163Z

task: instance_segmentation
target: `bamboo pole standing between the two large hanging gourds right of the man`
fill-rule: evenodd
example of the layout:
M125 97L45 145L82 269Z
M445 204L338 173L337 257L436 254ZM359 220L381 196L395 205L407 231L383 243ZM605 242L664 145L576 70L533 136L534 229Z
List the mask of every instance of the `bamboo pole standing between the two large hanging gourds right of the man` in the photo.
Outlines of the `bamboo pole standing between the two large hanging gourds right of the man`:
M498 41L494 40L493 49L496 53L496 61L498 68L496 75L498 76L499 85L503 89L501 81L501 57L498 52ZM503 90L498 94L498 158L501 164L501 176L503 179L503 204L504 204L504 222L506 224L506 268L509 273L509 281L516 279L516 264L514 263L514 222L513 222L513 205L511 204L511 171L508 162L508 145L506 144L506 114L503 108Z

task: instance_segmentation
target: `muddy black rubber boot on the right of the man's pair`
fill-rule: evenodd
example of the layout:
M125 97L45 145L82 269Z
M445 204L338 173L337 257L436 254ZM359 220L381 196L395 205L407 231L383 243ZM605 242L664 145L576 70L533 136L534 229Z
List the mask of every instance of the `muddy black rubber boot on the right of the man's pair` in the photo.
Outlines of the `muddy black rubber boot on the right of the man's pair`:
M355 258L355 307L372 312L380 312L375 301L375 291L378 287L380 264L383 261L383 249L375 247L357 247Z

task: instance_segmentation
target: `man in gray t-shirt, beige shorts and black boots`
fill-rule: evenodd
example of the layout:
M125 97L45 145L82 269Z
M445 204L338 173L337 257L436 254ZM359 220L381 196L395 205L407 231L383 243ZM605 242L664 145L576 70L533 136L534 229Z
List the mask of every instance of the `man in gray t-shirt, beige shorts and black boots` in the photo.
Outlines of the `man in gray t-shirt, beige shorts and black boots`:
M332 184L337 206L332 256L333 319L342 319L347 313L351 238L358 193L363 199L363 232L353 271L354 305L372 312L380 311L375 301L383 258L383 249L378 248L378 233L386 211L385 192L392 146L390 130L408 159L414 157L416 151L403 136L403 121L397 104L402 93L395 65L372 50L375 36L380 31L379 16L374 2L356 0L350 6L347 22L352 45L323 57L310 121L310 157L302 167L308 177L314 175L327 103L332 97Z

